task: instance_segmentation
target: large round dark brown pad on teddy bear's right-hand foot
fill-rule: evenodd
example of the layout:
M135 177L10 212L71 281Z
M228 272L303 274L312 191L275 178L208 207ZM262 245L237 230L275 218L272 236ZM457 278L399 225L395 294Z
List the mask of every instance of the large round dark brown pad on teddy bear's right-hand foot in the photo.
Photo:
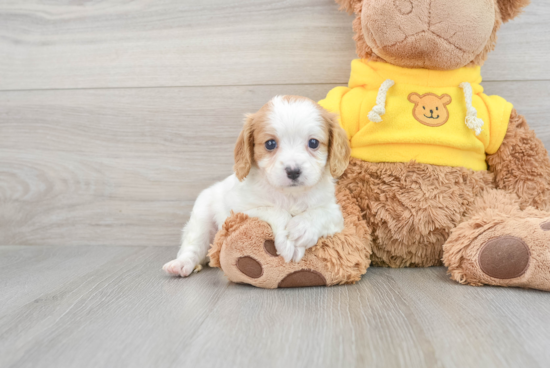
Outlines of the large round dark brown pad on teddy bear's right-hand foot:
M527 272L530 258L531 252L523 240L500 236L483 245L479 252L479 267L490 277L513 279Z

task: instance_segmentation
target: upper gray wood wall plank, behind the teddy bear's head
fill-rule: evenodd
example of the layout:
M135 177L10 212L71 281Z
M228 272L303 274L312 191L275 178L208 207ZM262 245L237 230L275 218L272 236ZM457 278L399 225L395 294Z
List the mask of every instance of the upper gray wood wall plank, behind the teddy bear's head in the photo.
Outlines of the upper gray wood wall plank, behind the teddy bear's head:
M0 89L345 83L333 0L0 3ZM506 24L486 80L548 80L550 2Z

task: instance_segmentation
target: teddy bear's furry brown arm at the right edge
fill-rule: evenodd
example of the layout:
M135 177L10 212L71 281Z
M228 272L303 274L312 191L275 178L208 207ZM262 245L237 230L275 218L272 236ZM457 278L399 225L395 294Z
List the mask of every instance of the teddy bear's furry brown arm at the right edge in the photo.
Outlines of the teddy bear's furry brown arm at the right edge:
M550 209L550 159L525 118L512 111L498 151L487 156L497 188L515 193L522 208Z

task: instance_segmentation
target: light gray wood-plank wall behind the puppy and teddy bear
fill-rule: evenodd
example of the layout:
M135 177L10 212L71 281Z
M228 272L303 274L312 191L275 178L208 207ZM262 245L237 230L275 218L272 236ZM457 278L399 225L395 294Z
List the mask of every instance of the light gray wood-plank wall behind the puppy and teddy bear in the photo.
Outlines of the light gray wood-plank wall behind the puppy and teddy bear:
M332 0L0 2L0 245L177 245L242 116L345 84ZM550 2L500 32L486 90L550 147Z

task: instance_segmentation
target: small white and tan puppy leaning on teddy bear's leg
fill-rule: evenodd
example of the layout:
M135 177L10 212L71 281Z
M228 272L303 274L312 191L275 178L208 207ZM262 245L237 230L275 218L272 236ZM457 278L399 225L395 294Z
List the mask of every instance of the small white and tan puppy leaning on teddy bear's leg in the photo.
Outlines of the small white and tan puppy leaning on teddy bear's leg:
M304 97L273 98L247 116L235 146L235 174L199 195L177 258L164 271L185 277L200 270L232 211L269 223L277 253L300 261L320 237L344 228L335 178L349 156L336 116Z

